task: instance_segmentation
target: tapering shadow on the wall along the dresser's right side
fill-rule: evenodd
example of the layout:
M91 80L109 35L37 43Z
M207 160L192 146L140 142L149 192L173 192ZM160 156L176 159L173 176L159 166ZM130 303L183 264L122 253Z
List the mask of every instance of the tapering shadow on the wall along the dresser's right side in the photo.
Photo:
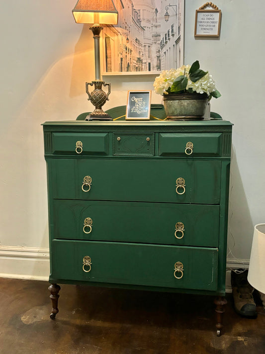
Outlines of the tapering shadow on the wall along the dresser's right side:
M230 196L228 213L228 259L233 262L250 257L254 224L238 168L236 151L232 146ZM229 250L232 254L229 254ZM235 258L234 258L234 257ZM246 257L246 256L245 256ZM244 258L245 258L244 257Z

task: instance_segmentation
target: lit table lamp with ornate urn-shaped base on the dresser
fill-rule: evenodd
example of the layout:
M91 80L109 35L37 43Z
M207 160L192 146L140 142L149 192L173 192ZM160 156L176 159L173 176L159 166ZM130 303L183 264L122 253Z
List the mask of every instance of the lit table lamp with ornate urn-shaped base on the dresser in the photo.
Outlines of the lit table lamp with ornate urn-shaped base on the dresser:
M95 80L86 83L88 100L95 107L86 120L112 120L112 118L101 107L108 100L110 94L110 84L101 80L100 75L100 32L102 24L117 24L118 11L112 0L78 0L72 10L76 23L90 23L89 29L93 32L94 54L95 54ZM90 93L88 88L94 85L94 90ZM108 93L102 90L103 86L108 86Z

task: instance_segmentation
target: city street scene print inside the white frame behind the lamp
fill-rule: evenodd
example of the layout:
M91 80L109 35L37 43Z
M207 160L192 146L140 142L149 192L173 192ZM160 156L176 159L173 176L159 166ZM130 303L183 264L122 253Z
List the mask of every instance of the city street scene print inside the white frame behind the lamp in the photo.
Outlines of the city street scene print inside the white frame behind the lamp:
M181 0L175 2L115 0L118 24L103 31L104 71L150 72L178 67L182 56Z

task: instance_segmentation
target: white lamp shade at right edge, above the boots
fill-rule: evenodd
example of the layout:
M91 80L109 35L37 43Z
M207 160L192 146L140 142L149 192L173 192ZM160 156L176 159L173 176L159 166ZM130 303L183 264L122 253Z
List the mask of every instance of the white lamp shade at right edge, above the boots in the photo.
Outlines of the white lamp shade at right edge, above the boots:
M248 281L265 294L265 224L258 224L254 228Z

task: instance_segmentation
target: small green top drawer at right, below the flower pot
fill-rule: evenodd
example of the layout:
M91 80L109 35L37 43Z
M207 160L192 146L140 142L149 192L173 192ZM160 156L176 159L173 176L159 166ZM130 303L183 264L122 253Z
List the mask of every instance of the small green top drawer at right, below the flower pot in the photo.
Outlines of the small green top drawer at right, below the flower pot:
M160 156L221 155L222 133L160 133Z

